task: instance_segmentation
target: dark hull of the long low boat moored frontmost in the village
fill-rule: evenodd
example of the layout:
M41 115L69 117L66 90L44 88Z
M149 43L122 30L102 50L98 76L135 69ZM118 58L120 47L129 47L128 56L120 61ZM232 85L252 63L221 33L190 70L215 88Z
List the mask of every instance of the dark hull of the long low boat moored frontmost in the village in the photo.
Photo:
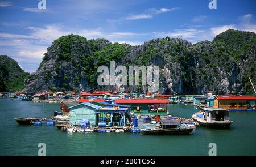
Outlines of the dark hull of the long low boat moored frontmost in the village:
M187 135L193 131L193 128L189 129L150 129L142 130L143 135Z

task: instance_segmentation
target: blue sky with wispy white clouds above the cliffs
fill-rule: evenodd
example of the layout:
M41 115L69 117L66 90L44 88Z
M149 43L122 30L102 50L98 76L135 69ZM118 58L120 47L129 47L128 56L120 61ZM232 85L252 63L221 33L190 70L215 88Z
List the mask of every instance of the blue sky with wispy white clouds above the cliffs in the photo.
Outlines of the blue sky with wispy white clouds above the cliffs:
M256 1L216 0L0 0L0 54L26 72L38 68L47 47L69 33L111 42L143 44L152 38L212 40L226 29L256 32Z

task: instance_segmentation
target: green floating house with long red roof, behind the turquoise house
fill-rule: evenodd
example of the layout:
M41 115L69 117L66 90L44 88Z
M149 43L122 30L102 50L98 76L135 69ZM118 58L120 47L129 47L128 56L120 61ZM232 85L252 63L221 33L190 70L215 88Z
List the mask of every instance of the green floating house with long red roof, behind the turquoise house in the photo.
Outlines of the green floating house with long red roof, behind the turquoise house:
M116 104L131 105L134 115L167 115L168 99L117 99Z

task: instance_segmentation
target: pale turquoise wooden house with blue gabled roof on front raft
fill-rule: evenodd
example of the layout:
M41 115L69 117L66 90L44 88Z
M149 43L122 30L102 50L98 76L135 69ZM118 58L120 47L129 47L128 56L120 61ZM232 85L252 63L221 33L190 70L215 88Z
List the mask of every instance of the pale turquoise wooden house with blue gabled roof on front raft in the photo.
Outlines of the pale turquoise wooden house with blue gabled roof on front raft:
M101 106L92 104L90 102L84 102L69 107L69 124L80 126L82 119L89 119L91 126L96 126L96 109Z

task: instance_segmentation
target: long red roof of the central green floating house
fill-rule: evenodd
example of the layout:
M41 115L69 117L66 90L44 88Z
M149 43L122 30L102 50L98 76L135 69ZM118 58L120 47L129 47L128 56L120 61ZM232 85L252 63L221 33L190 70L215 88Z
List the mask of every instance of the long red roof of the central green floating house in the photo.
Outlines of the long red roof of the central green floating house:
M117 99L116 104L168 104L168 99Z

